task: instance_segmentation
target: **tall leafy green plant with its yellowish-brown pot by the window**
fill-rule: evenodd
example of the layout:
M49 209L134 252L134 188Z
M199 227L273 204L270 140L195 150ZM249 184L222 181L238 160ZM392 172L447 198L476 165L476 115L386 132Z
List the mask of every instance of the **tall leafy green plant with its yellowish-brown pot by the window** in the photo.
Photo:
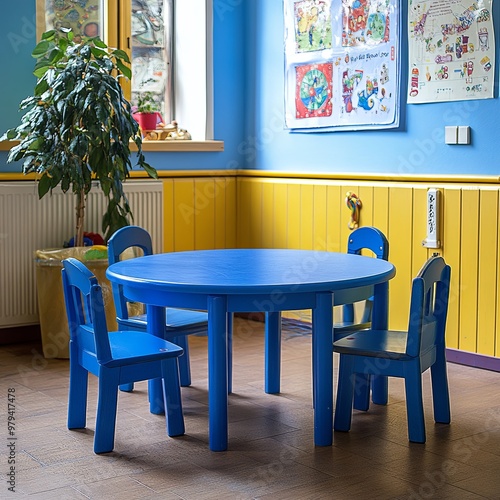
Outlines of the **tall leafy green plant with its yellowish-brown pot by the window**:
M107 240L132 216L122 185L132 169L130 141L137 145L137 165L151 177L157 173L145 161L139 126L120 86L121 78L131 77L124 51L109 48L98 37L76 41L71 30L61 29L45 32L32 55L37 77L34 94L20 104L25 110L21 124L0 140L20 141L9 151L8 161L24 160L23 172L36 174L40 198L57 186L75 196L74 248L37 251L36 269L44 355L67 357L66 319L53 311L64 309L61 260L69 256L85 260L87 254L85 201L92 181L98 182L108 200L102 219ZM112 327L116 314L105 280L107 254L103 257L94 266L87 264L105 292L108 289L105 303L110 308L108 327ZM40 259L45 260L39 263Z

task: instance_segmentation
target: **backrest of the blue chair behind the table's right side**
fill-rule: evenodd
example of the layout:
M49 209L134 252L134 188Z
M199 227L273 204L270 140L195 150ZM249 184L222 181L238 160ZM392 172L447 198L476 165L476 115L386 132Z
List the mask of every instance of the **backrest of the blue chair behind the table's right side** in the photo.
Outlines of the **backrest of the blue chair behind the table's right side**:
M389 242L384 233L376 227L359 227L349 235L347 253L361 255L361 251L364 249L372 251L377 259L389 259ZM372 299L367 300L365 304L360 320L361 324L371 321ZM352 304L346 304L343 311L344 321L354 321L354 306Z

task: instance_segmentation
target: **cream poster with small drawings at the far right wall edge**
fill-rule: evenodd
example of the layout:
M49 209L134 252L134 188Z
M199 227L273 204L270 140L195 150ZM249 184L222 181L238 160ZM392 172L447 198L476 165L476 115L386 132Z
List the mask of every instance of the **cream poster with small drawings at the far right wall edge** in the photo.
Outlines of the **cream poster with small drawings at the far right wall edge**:
M493 97L492 0L410 0L408 103Z

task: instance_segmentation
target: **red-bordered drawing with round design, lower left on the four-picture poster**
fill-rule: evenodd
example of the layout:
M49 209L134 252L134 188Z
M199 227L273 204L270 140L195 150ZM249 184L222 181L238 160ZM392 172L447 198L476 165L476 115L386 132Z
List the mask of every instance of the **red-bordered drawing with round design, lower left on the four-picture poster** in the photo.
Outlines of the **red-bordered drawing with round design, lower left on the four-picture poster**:
M332 63L304 64L295 68L297 118L332 114L332 71Z

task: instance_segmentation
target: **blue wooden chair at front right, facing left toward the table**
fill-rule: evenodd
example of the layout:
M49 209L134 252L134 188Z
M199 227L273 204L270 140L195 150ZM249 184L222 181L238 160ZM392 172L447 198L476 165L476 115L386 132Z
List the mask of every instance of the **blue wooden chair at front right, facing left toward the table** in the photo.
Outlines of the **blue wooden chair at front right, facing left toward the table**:
M450 398L446 374L445 328L450 267L442 257L430 258L413 279L407 331L362 330L333 343L340 354L334 429L351 428L356 374L405 380L409 440L425 442L422 373L431 370L434 420L449 424Z

